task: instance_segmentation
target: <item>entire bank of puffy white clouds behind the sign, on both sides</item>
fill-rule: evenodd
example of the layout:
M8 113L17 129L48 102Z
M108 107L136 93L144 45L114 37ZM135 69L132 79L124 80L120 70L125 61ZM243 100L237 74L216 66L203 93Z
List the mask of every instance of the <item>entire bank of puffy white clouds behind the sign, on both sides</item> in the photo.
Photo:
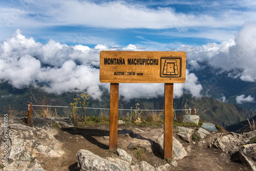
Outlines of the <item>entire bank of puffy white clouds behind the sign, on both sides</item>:
M186 82L176 83L174 97L190 93L201 97L202 86L193 70L203 70L201 62L228 72L231 78L255 82L256 80L256 24L248 23L235 39L220 44L208 43L192 47L180 45L172 51L187 53ZM126 47L96 45L94 48L68 46L54 40L47 44L26 38L20 30L12 37L0 42L0 79L8 81L14 88L23 89L29 85L43 85L50 93L87 92L99 99L100 87L110 89L108 83L99 82L99 52L101 50L145 50L130 44ZM152 84L120 84L119 95L131 98L153 98L163 96L164 86ZM238 103L245 97L238 98ZM246 97L250 100L250 97ZM242 100L240 100L242 99Z

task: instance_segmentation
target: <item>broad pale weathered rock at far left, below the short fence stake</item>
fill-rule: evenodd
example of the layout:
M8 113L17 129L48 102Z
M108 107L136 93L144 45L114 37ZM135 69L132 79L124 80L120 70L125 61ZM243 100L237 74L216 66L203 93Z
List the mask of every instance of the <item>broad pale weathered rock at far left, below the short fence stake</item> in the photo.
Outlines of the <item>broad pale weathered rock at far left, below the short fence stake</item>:
M37 154L46 157L61 157L65 152L61 143L54 138L57 132L24 124L14 123L9 125L10 159L31 160L29 156Z

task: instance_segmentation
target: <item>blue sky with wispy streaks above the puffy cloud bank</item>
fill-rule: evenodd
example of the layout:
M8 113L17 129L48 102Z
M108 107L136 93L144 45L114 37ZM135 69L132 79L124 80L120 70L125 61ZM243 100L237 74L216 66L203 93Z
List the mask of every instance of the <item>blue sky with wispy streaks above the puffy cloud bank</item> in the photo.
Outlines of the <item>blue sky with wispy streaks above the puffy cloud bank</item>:
M0 40L20 29L46 44L97 44L168 50L234 38L255 21L248 1L79 1L2 0Z

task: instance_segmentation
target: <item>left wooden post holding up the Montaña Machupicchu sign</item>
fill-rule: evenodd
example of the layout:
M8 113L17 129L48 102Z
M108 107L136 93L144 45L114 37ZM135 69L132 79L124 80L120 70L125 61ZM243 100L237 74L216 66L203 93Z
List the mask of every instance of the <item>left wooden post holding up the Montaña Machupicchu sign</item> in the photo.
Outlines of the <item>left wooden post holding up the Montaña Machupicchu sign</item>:
M117 148L119 83L110 83L110 145Z

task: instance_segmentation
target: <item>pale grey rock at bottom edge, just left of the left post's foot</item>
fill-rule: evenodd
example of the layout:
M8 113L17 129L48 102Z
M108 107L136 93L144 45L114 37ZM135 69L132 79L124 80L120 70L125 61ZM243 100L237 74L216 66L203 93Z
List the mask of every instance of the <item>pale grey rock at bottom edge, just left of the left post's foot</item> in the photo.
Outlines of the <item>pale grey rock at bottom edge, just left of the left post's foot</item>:
M131 170L130 163L120 159L101 158L86 149L80 149L77 154L78 167L82 170Z

